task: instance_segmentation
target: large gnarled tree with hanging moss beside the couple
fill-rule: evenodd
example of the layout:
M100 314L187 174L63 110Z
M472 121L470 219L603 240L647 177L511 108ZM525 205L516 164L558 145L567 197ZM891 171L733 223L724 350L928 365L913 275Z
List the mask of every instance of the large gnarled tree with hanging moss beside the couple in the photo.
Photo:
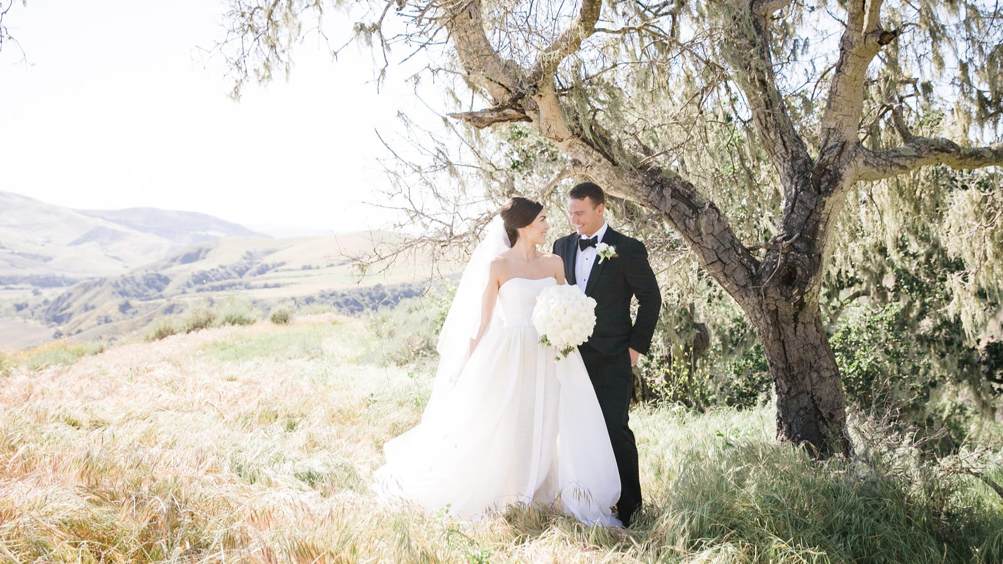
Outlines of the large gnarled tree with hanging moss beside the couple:
M235 93L289 69L321 0L231 0ZM819 310L848 195L1003 164L1000 8L936 0L359 0L358 36L447 42L477 128L525 122L677 231L754 327L777 438L849 455ZM393 10L405 25L385 33ZM250 69L250 70L249 70ZM950 135L951 138L949 138ZM942 136L943 135L943 136ZM952 140L953 139L953 140ZM977 145L984 147L977 147ZM922 193L909 198L923 199ZM722 211L742 210L737 229ZM750 219L751 218L751 219ZM744 236L744 238L743 238ZM762 236L764 241L757 241ZM749 239L755 237L756 239ZM990 281L992 282L992 281Z

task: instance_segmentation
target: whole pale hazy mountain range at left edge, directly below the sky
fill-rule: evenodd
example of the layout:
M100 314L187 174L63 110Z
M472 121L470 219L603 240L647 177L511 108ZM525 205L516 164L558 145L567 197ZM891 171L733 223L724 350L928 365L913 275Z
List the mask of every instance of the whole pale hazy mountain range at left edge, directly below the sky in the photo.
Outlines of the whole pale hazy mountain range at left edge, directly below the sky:
M45 288L124 274L227 236L269 237L196 212L72 210L0 191L0 285Z

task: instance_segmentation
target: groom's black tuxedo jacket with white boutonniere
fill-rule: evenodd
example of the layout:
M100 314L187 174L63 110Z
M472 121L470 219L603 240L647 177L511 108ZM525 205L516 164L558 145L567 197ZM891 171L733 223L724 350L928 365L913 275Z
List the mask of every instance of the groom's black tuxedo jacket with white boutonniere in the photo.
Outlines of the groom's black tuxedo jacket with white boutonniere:
M576 284L575 261L578 259L578 234L554 242L554 253L564 259L565 280ZM655 323L662 308L662 293L655 273L648 264L644 243L606 228L603 243L617 249L617 257L602 263L597 257L589 275L585 294L596 300L596 328L587 341L604 354L620 354L633 348L647 354ZM637 296L637 321L631 325L630 299Z

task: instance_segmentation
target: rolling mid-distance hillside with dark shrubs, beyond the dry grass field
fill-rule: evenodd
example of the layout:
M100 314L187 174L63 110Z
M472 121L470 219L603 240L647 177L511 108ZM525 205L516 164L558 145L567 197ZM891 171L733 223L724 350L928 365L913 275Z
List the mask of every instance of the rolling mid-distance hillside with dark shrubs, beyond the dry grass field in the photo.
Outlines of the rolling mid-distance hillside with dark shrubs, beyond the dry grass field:
M141 333L159 316L227 301L251 303L263 313L283 302L323 303L345 312L396 303L428 286L431 266L425 258L401 260L361 281L348 260L394 237L375 231L291 239L223 237L189 245L125 274L6 304L0 300L0 337L5 315L30 319L49 327L50 334L79 342L115 342ZM448 273L450 265L439 268ZM13 344L0 340L0 350L16 350Z

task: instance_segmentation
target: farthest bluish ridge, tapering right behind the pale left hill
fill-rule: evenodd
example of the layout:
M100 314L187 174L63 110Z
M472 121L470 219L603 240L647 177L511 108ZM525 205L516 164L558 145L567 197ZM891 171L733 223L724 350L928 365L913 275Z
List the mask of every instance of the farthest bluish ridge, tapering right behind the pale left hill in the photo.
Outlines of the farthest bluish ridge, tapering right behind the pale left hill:
M220 237L272 236L223 221L199 212L178 212L157 208L125 208L124 210L74 210L92 218L99 218L122 227L169 239L182 245L212 241Z

